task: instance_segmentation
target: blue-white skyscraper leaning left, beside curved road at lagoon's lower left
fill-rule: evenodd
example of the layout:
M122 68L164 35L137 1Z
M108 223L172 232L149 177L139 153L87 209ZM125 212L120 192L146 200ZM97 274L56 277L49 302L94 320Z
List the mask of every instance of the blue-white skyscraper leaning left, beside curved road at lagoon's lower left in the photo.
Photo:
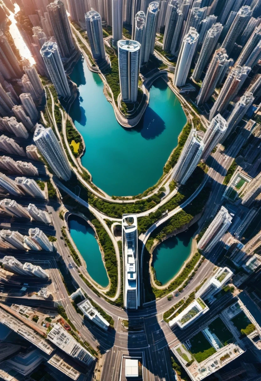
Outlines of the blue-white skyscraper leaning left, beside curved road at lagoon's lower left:
M68 181L71 178L71 168L52 128L37 124L34 142L56 176Z

